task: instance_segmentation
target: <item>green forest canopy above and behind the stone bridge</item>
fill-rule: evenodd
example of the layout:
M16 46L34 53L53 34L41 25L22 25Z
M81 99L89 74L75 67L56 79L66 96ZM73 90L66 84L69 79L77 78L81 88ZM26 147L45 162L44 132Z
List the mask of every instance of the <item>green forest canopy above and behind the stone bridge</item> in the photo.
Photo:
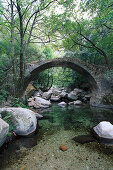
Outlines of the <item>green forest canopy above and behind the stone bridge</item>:
M61 57L71 51L76 54L73 57L110 70L112 37L112 0L0 0L0 100L17 95L27 64L35 60ZM38 80L42 75L51 77L51 70L37 77L39 86L45 87L45 82ZM59 74L54 77L52 83L58 84ZM66 77L71 79L70 87L77 79L83 80L72 70L63 71L64 84Z

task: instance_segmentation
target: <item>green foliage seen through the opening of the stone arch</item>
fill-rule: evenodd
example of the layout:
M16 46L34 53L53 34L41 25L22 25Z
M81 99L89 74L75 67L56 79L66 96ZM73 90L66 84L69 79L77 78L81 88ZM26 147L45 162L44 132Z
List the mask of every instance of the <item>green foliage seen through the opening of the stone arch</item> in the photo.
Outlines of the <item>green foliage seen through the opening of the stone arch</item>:
M75 87L89 90L87 80L79 73L70 68L55 67L41 72L33 85L37 89L47 90L51 86L57 88L65 87L67 90L73 90Z

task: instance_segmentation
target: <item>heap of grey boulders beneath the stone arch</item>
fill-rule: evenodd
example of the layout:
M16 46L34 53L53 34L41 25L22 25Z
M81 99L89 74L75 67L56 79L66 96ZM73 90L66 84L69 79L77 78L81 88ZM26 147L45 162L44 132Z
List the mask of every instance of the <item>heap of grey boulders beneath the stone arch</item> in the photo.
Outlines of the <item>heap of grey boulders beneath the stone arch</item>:
M58 105L65 107L68 105L81 105L90 101L91 94L86 94L83 90L75 88L67 92L64 88L51 88L48 92L38 91L28 99L28 106L33 108L47 108L51 102L59 102Z

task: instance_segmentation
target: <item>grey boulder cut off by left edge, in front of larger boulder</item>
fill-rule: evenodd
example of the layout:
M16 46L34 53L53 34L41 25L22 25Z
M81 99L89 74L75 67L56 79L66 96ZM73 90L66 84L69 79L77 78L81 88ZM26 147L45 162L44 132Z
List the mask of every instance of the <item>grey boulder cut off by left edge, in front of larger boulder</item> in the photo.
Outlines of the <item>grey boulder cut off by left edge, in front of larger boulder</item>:
M0 147L5 142L9 131L9 125L0 118Z

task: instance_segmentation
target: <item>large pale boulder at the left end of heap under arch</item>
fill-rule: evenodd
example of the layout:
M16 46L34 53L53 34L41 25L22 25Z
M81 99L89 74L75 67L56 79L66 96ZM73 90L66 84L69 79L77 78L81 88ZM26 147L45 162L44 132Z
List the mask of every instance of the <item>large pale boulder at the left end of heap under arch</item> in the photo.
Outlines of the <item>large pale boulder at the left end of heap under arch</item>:
M28 99L28 106L34 108L47 108L51 106L51 103L41 97L32 97Z

